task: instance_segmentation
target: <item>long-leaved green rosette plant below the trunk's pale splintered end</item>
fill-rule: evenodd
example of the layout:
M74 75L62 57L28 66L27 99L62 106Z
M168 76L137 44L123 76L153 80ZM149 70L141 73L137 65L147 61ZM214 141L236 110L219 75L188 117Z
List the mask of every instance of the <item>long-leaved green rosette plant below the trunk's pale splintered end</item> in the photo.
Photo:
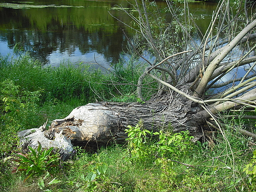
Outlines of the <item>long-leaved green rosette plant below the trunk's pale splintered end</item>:
M17 170L29 175L25 181L33 174L42 175L58 165L60 157L58 154L52 154L53 147L48 150L42 149L41 143L38 142L36 150L32 149L32 147L28 148L30 152L27 155L18 153L17 156L20 159L15 160L20 164Z

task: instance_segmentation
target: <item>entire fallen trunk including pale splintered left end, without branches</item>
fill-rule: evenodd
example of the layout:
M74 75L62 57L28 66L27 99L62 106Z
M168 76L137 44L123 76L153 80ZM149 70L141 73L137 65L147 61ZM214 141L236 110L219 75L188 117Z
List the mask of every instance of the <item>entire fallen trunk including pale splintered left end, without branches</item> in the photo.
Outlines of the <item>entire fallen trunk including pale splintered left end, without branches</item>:
M39 141L44 148L59 148L65 160L72 156L70 144L92 151L112 141L122 143L127 138L124 131L127 126L134 127L139 121L143 122L145 129L153 131L161 128L170 128L174 132L189 130L194 136L193 140L198 140L202 136L200 126L204 122L203 119L192 117L198 107L192 107L192 101L184 97L171 102L168 100L170 99L145 103L89 103L75 108L64 119L54 120L48 130L41 127L33 131L21 131L21 147L35 148Z

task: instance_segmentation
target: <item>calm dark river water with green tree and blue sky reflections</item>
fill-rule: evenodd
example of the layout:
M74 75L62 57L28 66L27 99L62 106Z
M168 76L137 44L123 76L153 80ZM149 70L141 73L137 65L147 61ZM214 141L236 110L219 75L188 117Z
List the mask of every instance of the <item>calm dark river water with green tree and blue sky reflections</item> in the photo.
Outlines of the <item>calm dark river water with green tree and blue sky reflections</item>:
M158 3L166 6L164 1ZM19 43L46 65L70 61L109 68L127 51L123 31L132 36L127 26L109 14L131 22L116 4L131 8L126 0L0 0L0 54L12 53ZM217 4L190 6L198 27L205 32Z

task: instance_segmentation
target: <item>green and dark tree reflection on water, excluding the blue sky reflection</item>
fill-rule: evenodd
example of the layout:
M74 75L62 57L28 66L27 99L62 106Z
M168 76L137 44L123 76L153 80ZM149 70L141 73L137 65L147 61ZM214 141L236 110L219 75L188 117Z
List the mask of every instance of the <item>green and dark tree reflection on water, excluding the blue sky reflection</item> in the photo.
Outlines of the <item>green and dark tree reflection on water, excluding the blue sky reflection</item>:
M42 62L53 51L72 54L76 47L82 54L96 50L108 62L118 62L127 43L122 25L116 25L107 8L86 2L91 4L85 8L1 8L0 38L10 48L21 43Z

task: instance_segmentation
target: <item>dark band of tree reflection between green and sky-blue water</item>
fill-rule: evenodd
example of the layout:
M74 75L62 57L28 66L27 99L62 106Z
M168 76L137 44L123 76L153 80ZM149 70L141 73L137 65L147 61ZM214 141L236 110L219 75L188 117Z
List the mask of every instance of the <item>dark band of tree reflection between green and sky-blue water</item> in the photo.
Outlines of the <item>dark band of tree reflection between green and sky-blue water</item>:
M30 51L32 56L42 62L46 62L47 56L53 51L67 51L72 54L78 47L82 54L96 50L97 53L103 54L108 62L115 63L127 43L121 30L115 33L104 32L103 29L93 33L77 29L56 32L14 30L1 32L1 36L7 40L9 47L20 42L25 50Z

